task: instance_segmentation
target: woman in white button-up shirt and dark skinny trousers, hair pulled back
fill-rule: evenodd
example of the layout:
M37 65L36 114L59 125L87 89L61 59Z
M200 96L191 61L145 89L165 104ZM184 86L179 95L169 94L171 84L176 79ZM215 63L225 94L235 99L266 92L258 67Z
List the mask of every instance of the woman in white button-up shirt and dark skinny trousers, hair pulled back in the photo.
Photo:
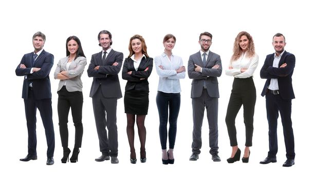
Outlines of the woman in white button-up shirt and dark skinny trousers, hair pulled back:
M172 54L176 38L167 34L163 38L164 52L155 57L155 66L159 75L156 104L159 114L159 137L162 149L162 164L173 164L173 148L175 144L177 119L180 109L180 81L185 78L185 66L182 58ZM169 107L169 132L167 131ZM167 136L169 133L169 150Z

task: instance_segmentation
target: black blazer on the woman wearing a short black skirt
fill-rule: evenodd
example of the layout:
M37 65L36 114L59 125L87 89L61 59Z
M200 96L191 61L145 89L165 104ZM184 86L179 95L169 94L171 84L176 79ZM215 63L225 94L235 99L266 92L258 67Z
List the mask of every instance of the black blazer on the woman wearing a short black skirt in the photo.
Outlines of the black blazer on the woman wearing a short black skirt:
M149 68L147 71L144 71ZM125 86L125 91L127 90L137 90L137 91L150 91L148 78L153 70L153 58L143 57L139 65L138 71L135 71L133 60L131 58L126 58L123 63L122 68L122 79L127 80ZM127 72L132 71L129 75ZM144 78L143 80L140 80Z

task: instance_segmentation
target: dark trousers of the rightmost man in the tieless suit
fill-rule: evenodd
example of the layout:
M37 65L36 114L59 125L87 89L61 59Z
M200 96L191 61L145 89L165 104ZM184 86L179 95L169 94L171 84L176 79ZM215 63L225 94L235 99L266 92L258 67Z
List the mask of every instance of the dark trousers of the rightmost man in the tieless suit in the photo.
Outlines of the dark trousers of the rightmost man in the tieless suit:
M269 123L269 152L268 156L275 157L278 152L278 118L279 111L281 114L284 141L286 146L287 159L295 159L295 140L293 137L292 122L291 122L291 99L282 99L280 95L267 93L266 111Z

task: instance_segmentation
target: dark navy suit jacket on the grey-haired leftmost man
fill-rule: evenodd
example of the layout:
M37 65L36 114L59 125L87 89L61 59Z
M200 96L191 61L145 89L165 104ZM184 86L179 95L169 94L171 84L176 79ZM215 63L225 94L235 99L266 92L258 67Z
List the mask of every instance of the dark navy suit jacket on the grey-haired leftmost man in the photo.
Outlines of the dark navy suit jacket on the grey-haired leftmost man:
M20 64L17 66L15 73L17 76L25 76L23 83L22 98L28 99L29 84L32 82L34 99L49 99L51 95L51 84L49 74L53 66L54 56L45 50L36 58L33 65L33 52L25 54L20 64L25 64L26 69L20 68ZM31 68L41 68L38 72L30 74Z

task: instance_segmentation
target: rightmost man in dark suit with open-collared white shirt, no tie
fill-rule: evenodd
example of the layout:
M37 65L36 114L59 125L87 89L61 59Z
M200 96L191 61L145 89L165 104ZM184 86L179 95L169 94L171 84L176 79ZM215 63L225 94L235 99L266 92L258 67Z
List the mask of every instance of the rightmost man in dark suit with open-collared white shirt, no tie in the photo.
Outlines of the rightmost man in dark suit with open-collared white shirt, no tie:
M296 58L295 55L284 50L286 42L283 34L275 34L272 44L275 53L266 56L260 71L261 78L267 79L261 95L265 95L269 123L269 152L267 158L260 163L277 162L277 120L280 111L287 157L283 166L290 167L295 164L295 142L291 122L291 100L295 98L295 94L292 89L291 76L295 68Z

